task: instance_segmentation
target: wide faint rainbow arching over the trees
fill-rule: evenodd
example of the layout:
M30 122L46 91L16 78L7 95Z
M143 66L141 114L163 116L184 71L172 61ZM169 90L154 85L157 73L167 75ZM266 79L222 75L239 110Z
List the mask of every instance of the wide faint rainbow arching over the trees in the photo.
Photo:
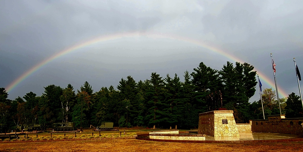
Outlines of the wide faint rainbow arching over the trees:
M48 64L49 62L52 62L53 60L55 60L56 58L60 58L64 55L67 55L77 49L80 48L84 48L87 47L89 45L93 45L93 44L97 44L100 42L104 42L104 41L110 41L110 40L116 40L116 39L121 39L121 38L130 38L130 37L140 37L140 36L146 36L148 38L167 38L167 39L172 39L172 40L177 40L177 41L183 41L183 42L188 42L190 44L194 44L197 46L200 46L202 48L206 48L210 51L216 52L220 55L223 55L229 59L231 59L232 61L238 61L241 63L244 63L244 61L241 61L239 58L236 58L230 54L228 54L227 52L224 52L221 49L215 48L213 46L207 45L201 41L195 40L195 39L191 39L191 38L186 38L186 37L180 37L177 35L165 35L165 34L155 34L155 33L140 33L140 32L125 32L125 33L116 33L116 34L111 34L111 35L103 35L101 37L98 38L93 38L89 41L85 41L82 43L79 43L77 45L74 45L70 48L67 48L65 50L60 51L59 53L52 55L51 57L45 59L44 61L36 64L35 66L33 66L32 68L30 68L28 71L26 71L25 73L23 73L21 76L19 76L19 78L15 79L11 84L9 84L6 88L7 91L10 92L12 91L14 88L16 88L22 81L24 81L26 78L28 78L29 76L31 76L34 72L38 71L40 68L42 68L45 64ZM258 71L256 68L254 68L254 70ZM258 72L260 78L261 78L261 82L267 83L271 88L275 88L274 85L274 81L269 79L266 75ZM282 95L282 97L288 97L288 94L285 93L284 90L282 90L281 88L279 89L279 94Z

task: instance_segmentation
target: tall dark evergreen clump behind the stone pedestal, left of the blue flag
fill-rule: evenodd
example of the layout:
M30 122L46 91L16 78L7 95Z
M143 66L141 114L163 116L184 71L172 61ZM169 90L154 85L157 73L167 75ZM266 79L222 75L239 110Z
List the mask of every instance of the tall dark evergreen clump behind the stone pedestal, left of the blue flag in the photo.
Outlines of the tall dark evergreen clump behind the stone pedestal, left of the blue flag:
M229 61L224 64L219 74L223 83L223 105L229 110L234 110L237 123L248 122L251 117L249 98L256 91L256 71L248 63L236 62L235 66Z

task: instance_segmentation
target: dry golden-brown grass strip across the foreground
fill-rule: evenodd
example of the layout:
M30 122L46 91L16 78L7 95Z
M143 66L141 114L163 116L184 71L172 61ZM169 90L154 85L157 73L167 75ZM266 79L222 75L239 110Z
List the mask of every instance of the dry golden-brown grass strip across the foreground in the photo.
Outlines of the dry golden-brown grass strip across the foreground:
M173 143L135 139L1 142L0 151L302 151L302 141L278 143Z

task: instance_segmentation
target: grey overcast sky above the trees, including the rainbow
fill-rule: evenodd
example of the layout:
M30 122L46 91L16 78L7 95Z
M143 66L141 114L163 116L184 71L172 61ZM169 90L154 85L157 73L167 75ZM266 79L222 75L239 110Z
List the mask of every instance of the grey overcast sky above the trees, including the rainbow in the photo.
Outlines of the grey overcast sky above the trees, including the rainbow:
M12 100L50 84L77 90L88 81L95 92L128 75L183 81L200 62L221 70L239 61L254 66L262 90L276 90L272 53L279 97L299 95L302 14L300 0L2 0L0 88Z

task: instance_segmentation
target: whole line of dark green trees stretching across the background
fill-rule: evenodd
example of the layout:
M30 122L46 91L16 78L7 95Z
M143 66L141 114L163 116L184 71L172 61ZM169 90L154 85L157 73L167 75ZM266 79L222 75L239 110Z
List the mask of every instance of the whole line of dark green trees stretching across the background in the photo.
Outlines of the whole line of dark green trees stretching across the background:
M263 118L261 101L249 102L257 84L253 70L248 63L227 61L218 71L201 62L193 72L184 72L183 81L177 74L163 78L152 72L144 81L136 82L130 75L121 78L117 90L111 85L94 92L87 81L77 92L71 84L51 84L41 96L29 92L15 100L7 99L5 88L0 88L0 123L12 129L18 124L51 127L56 122L74 122L78 128L114 122L119 127L188 129L198 126L199 113L220 108L214 104L218 102L234 111L236 123L247 123ZM279 114L274 94L271 89L262 93L265 115ZM299 98L292 93L280 99L281 110L302 117Z

